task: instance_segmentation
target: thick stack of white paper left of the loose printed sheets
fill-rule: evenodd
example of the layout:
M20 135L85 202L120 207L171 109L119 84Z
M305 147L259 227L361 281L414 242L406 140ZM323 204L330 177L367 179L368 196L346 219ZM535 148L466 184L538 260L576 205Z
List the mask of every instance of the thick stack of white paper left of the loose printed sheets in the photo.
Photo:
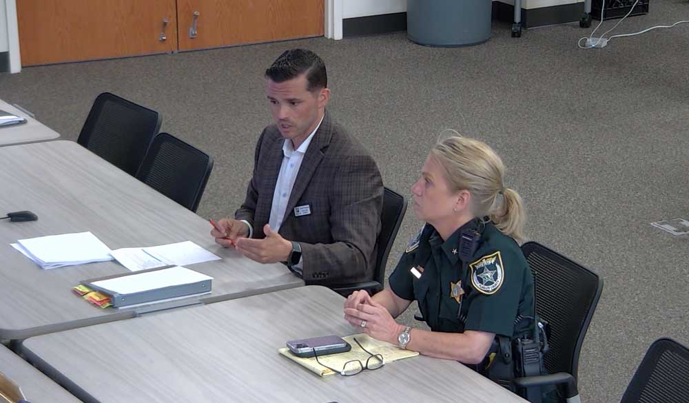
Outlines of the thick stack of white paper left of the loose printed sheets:
M110 248L90 232L20 239L12 247L43 269L112 260Z

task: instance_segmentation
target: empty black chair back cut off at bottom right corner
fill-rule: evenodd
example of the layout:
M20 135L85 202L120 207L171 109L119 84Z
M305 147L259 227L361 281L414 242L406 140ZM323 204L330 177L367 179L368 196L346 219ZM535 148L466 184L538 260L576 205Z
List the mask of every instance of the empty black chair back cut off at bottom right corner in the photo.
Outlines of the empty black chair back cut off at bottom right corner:
M689 349L667 338L650 345L621 403L689 402Z

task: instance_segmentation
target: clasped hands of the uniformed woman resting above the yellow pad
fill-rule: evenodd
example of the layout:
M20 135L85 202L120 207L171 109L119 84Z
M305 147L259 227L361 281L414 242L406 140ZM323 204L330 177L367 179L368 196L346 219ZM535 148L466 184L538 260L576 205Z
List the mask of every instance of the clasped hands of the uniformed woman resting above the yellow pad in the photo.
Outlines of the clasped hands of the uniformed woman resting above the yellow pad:
M347 297L345 319L372 338L392 344L398 344L397 337L404 331L404 326L395 322L387 308L373 301L363 290L354 291ZM365 321L364 326L362 321Z

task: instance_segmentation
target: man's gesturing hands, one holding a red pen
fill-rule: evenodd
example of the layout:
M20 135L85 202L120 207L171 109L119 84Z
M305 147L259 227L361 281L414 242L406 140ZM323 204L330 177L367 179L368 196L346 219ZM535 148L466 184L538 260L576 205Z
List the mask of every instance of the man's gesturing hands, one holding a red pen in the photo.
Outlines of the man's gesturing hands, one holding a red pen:
M265 238L251 239L249 225L240 220L223 218L217 223L218 231L214 228L211 235L216 238L216 243L223 247L234 247L240 254L259 263L285 262L292 251L292 243L266 224L263 227Z

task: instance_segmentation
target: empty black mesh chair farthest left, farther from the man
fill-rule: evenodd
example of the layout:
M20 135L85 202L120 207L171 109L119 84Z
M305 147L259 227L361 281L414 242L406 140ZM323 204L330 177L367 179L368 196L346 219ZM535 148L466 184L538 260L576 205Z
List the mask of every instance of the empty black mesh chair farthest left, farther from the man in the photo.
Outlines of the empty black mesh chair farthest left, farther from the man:
M134 176L160 128L158 112L103 92L96 97L76 142Z

